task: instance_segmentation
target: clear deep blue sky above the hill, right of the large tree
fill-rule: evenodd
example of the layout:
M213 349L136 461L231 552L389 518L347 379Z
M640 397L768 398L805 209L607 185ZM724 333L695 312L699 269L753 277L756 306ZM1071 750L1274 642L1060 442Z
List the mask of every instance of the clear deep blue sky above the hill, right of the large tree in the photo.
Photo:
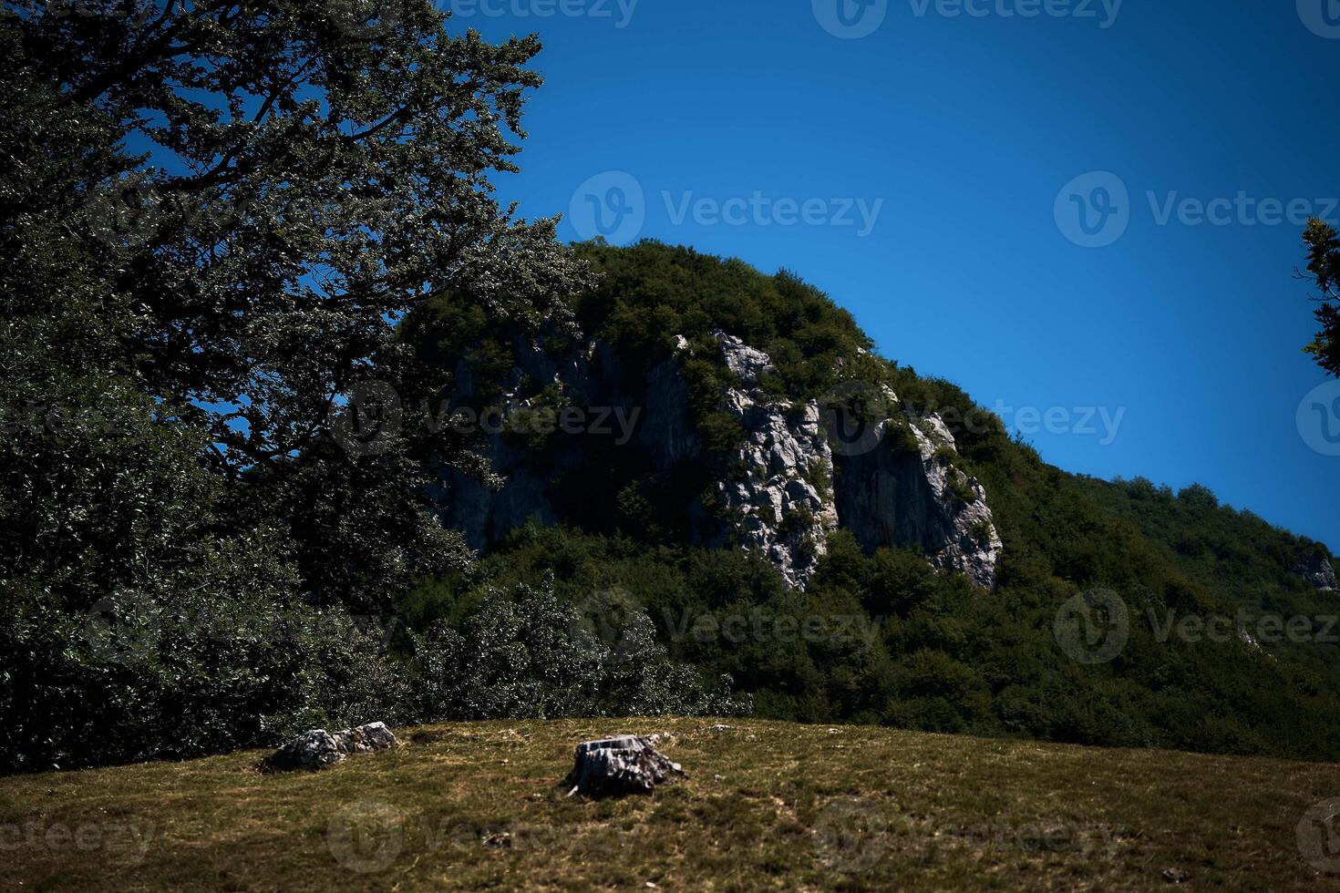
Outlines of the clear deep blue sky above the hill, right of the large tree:
M842 17L839 0L457 4L473 11L457 25L545 46L503 194L567 214L595 177L607 214L632 212L611 241L796 270L883 355L1013 410L1049 462L1201 482L1340 549L1340 458L1300 432L1325 379L1300 352L1313 325L1288 220L1340 217L1324 201L1340 197L1340 3L840 1ZM628 181L608 171L641 199L619 204ZM1067 187L1091 171L1116 179ZM725 222L699 202L754 193L819 202L792 225L785 205L737 202ZM882 202L868 233L856 209L831 222L839 199ZM1215 222L1183 199L1221 199ZM592 234L592 208L564 238ZM1052 430L1022 407L1057 408ZM1081 424L1085 407L1107 423Z

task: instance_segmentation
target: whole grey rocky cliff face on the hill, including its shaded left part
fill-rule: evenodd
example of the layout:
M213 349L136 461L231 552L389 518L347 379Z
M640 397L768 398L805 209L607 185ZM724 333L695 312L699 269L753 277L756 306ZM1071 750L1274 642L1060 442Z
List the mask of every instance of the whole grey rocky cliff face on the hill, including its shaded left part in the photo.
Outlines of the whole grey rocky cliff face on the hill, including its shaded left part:
M517 366L504 394L508 430L492 434L486 447L503 485L490 489L446 474L440 494L445 521L486 550L528 518L555 523L599 511L592 503L608 499L608 493L574 493L565 485L572 478L705 477L704 491L671 494L683 503L690 538L757 550L793 586L808 582L836 527L850 529L867 550L918 548L935 568L994 586L1001 541L986 493L955 467L954 438L937 415L904 411L888 388L851 382L820 400L777 396L766 388L769 356L717 332L720 356L712 359L729 371L720 408L742 438L724 455L708 455L683 375L691 348L682 337L677 344L670 357L635 376L608 345L588 344L553 360L519 339ZM469 376L462 371L458 378L469 394ZM548 418L583 420L551 426L556 431L539 450L533 438L519 442L525 426L516 424L536 418L537 386L551 400L561 394L561 406L551 403ZM848 398L868 392L876 399L864 406L878 404L880 412L856 420ZM598 431L594 422L602 418L607 430ZM683 475L685 466L701 474ZM615 506L606 510L614 513Z

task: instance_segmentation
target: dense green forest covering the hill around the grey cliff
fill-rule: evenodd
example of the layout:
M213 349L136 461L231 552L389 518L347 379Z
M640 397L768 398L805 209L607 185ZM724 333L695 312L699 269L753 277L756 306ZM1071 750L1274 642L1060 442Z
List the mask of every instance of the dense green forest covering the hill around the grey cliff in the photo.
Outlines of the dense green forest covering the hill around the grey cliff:
M941 412L986 485L1005 542L1000 586L984 593L933 573L909 550L864 554L836 532L819 574L796 592L765 561L687 548L643 515L606 505L592 513L600 522L531 525L472 570L423 584L405 602L415 625L460 623L489 593L552 574L555 590L588 612L610 644L622 636L610 616L645 611L674 657L729 675L764 716L1340 754L1328 731L1340 719L1340 648L1328 621L1336 594L1290 573L1316 544L1222 507L1203 487L1172 494L1045 465L953 384L866 353L870 341L851 317L789 273L764 276L654 242L580 252L602 274L576 304L582 327L643 368L669 355L674 335L704 339L724 328L776 357L781 394L813 398L838 376L876 376ZM438 315L449 319L444 308ZM507 345L500 335L481 352L505 356ZM724 387L713 374L699 372L698 391L699 423L712 434L714 388ZM604 490L607 482L591 482L588 491ZM1089 589L1118 593L1131 619L1126 648L1101 665L1067 657L1053 632L1057 609ZM622 609L611 613L611 604ZM1189 615L1229 619L1231 635L1159 635ZM1262 615L1305 617L1308 632L1294 628L1261 651L1237 631L1258 637Z

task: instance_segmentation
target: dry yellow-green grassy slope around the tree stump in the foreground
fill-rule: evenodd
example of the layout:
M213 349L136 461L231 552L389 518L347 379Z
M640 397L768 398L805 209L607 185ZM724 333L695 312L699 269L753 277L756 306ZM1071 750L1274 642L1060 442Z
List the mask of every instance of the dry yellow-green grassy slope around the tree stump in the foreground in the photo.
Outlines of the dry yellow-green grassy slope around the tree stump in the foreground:
M1143 890L1172 869L1340 889L1297 831L1340 794L1335 766L724 722L399 730L399 751L322 774L244 752L0 779L0 886ZM687 781L567 799L574 744L622 731L667 735Z

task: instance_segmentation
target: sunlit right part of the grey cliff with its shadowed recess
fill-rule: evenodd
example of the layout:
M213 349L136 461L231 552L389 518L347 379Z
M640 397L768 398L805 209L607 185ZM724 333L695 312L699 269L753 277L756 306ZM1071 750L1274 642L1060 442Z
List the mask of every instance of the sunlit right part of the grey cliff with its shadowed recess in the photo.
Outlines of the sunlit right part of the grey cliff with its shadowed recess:
M910 415L887 387L864 386L887 418L840 436L842 420L821 414L819 402L795 406L756 387L772 368L766 353L722 332L717 340L742 386L728 391L725 410L745 431L737 459L746 473L718 483L741 545L804 586L827 552L827 533L842 526L866 549L918 545L933 566L996 585L1001 540L986 490L954 467L957 444L943 419Z

